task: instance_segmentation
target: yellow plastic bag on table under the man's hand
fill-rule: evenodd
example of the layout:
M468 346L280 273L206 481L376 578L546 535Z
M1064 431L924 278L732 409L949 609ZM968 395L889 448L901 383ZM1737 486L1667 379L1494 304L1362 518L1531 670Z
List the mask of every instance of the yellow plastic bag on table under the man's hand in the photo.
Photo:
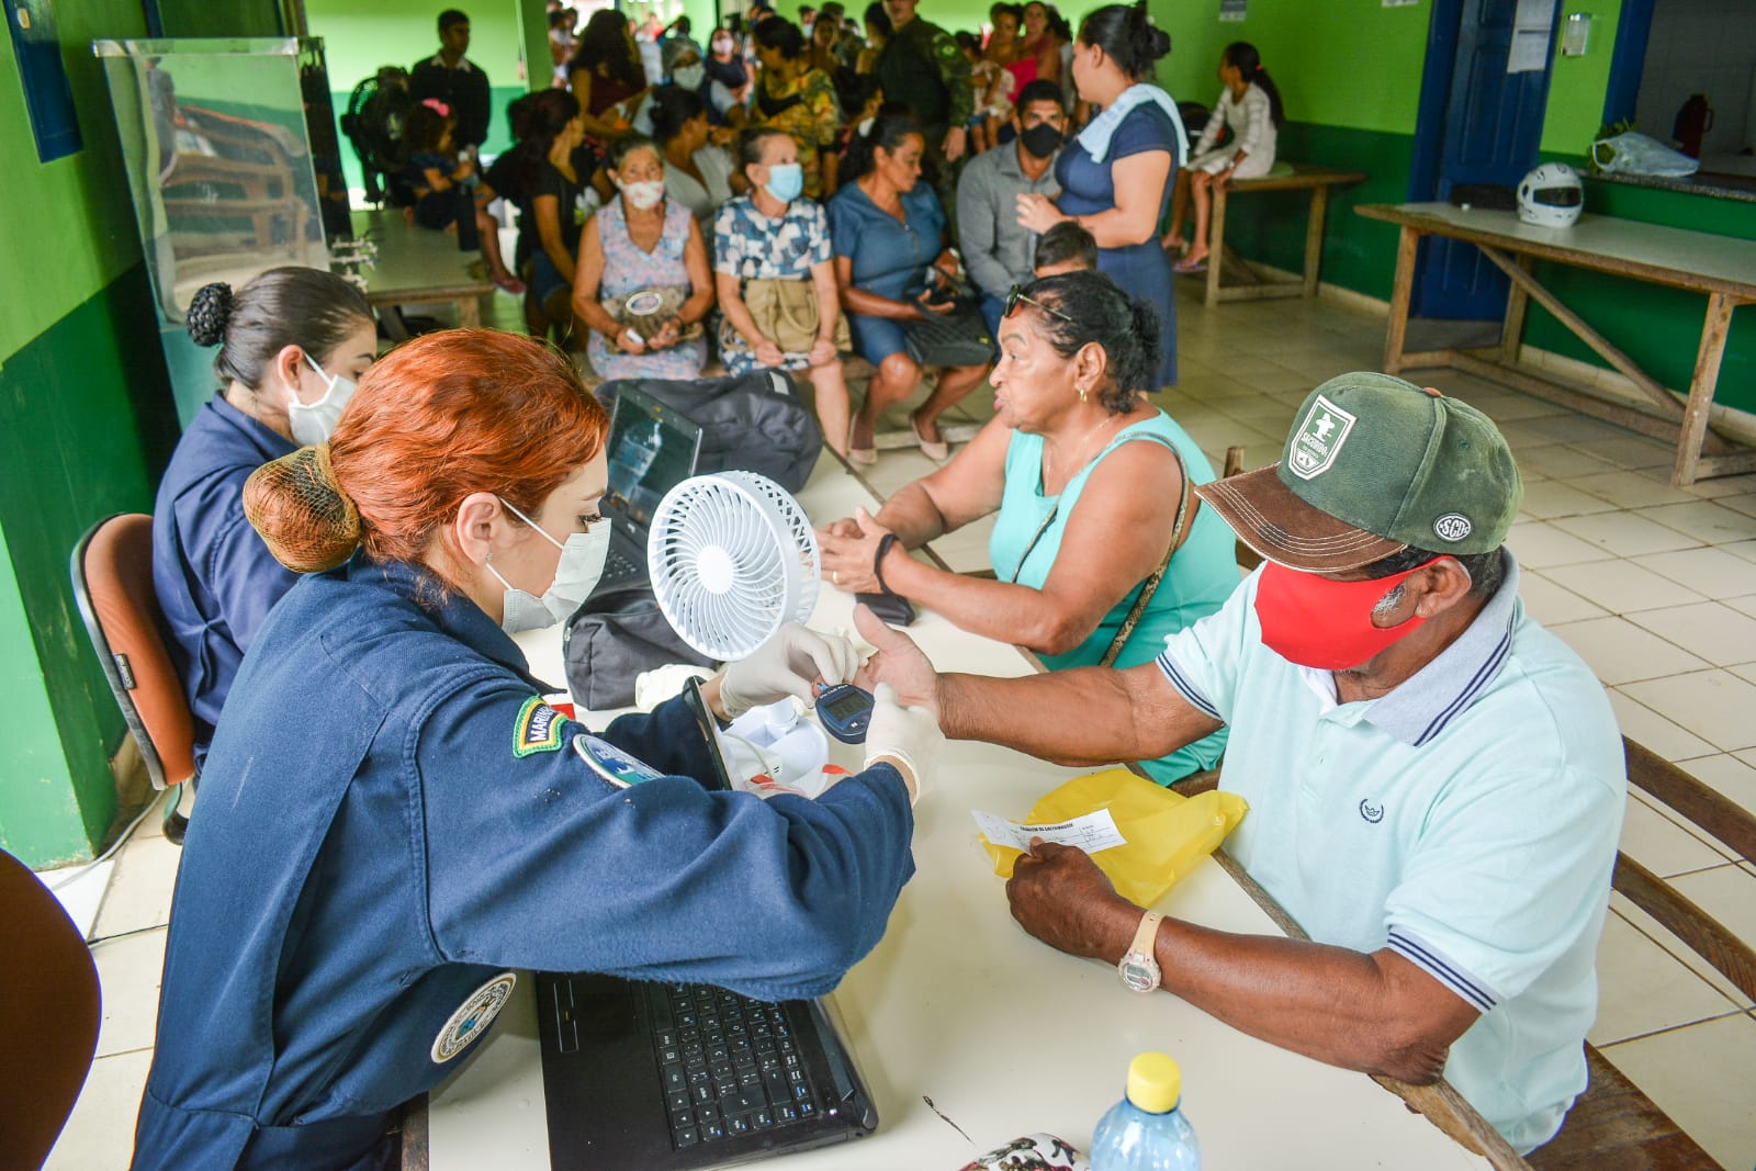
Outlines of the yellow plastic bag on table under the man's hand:
M1226 841L1250 804L1238 794L1217 788L1184 797L1161 785L1134 776L1127 769L1105 769L1075 776L1045 794L1026 818L1029 825L1054 825L1085 813L1108 809L1126 844L1092 855L1117 894L1140 906L1152 906L1196 862ZM994 873L1011 878L1018 850L996 846L982 837L982 848L994 858Z

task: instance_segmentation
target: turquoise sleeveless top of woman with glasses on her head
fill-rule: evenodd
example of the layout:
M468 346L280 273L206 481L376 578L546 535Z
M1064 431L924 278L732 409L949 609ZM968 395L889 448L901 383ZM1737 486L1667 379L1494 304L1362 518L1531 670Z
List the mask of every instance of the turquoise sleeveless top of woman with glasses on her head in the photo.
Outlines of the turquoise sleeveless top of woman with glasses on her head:
M1213 479L1213 465L1208 463L1201 448L1162 411L1117 434L1110 446L1080 469L1057 497L1043 493L1043 437L1013 432L1006 448L1006 490L1001 495L999 516L994 518L994 534L989 537L989 564L994 565L1001 581L1043 588L1055 558L1061 555L1061 542L1078 507L1080 493L1085 492L1085 481L1090 479L1105 456L1127 442L1173 446L1184 458L1184 467L1189 469L1191 483L1205 485ZM1192 499L1189 506L1194 507ZM1166 636L1194 625L1226 604L1231 592L1238 588L1238 560L1233 541L1233 532L1219 518L1219 513L1213 509L1196 511L1189 537L1171 557L1164 579L1159 581L1152 600L1141 611L1134 632L1122 644L1122 651L1115 658L1117 669L1152 662L1164 650ZM1064 655L1038 653L1038 658L1050 671L1090 667L1101 662L1127 613L1134 609L1140 590L1141 585L1129 590L1120 602L1110 607L1098 629L1071 651ZM1169 785L1191 772L1212 769L1222 751L1226 751L1226 729L1178 748L1168 757L1140 764L1152 779Z

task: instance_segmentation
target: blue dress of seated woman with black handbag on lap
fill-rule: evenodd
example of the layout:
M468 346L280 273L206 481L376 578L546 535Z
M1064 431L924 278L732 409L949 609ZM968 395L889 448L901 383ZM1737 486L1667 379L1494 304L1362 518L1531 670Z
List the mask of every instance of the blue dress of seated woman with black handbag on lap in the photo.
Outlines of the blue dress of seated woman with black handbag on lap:
M945 209L927 183L903 195L897 219L860 190L859 183L829 200L829 237L836 256L853 262L853 284L890 300L913 300L927 291L927 265L945 249ZM894 318L848 314L853 349L882 363L903 351L903 323Z

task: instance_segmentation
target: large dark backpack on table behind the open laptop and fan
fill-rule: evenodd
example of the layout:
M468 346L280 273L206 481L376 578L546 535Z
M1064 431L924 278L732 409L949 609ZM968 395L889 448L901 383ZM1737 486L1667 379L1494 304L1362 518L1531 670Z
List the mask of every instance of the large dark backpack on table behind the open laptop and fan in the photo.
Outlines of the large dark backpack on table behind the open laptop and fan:
M611 379L597 393L609 402L623 384L701 425L701 472L745 469L797 492L811 478L824 449L817 414L783 370L695 381Z

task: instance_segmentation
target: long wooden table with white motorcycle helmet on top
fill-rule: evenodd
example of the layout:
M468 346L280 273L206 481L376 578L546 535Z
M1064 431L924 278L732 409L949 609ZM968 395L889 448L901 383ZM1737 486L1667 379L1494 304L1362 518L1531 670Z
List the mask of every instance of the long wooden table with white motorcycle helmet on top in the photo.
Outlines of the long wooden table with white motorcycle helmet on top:
M1356 207L1368 219L1401 225L1396 249L1396 288L1391 293L1391 325L1384 341L1384 370L1452 367L1491 377L1519 390L1559 402L1580 414L1608 420L1630 430L1677 444L1673 485L1691 485L1707 476L1737 476L1756 471L1756 449L1735 444L1712 430L1710 411L1719 362L1731 330L1731 311L1756 302L1756 241L1738 241L1707 232L1663 228L1651 223L1580 216L1570 228L1538 228L1521 223L1515 212L1452 207L1450 204L1366 204ZM1512 279L1500 342L1465 349L1408 353L1408 304L1414 288L1415 249L1422 235L1466 241L1482 249L1496 269ZM1535 262L1605 272L1707 295L1707 320L1695 353L1695 376L1686 393L1672 392L1635 365L1601 334L1533 276ZM1651 402L1651 411L1614 402L1552 376L1538 376L1519 360L1524 314L1529 302L1552 313L1582 342L1631 381ZM1680 395L1680 397L1679 397Z

